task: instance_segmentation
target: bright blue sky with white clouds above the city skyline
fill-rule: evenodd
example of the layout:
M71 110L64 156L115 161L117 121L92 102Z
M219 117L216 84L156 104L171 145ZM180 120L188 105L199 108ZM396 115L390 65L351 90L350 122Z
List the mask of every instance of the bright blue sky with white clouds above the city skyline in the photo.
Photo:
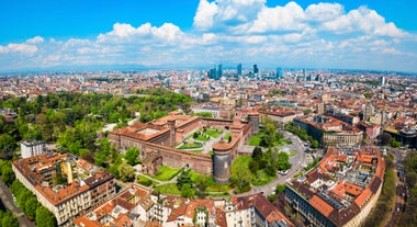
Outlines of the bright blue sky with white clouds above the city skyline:
M0 71L106 68L417 72L414 0L2 0Z

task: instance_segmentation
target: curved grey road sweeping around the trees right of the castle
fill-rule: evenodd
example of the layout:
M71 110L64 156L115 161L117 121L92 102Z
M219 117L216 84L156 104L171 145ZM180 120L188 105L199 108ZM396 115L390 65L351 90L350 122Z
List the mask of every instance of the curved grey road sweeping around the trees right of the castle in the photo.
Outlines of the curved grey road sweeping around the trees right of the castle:
M301 171L303 169L303 162L305 161L305 147L304 143L294 134L291 134L289 132L280 132L285 138L289 138L293 143L294 149L297 151L297 155L295 157L292 157L290 159L290 162L292 163L292 167L286 175L279 175L278 179L273 180L271 183L262 186L253 186L251 191L237 194L237 196L246 196L255 193L262 192L264 196L268 196L272 194L275 190L277 184L285 183L288 180L290 180L295 173ZM230 191L230 194L233 194L233 191Z

